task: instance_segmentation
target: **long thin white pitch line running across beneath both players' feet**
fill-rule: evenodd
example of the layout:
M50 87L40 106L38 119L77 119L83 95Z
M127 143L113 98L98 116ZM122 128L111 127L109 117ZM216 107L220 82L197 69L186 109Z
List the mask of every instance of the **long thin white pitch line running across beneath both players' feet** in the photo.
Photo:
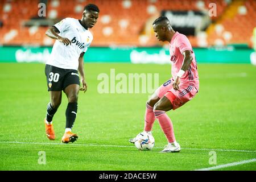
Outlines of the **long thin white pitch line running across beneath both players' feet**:
M44 142L5 142L0 141L0 143L14 143L14 144L49 144L49 145L67 145L65 143L44 143ZM117 146L112 144L82 144L82 143L72 143L72 146L98 146L98 147L134 147L134 146ZM155 147L155 148L163 148L163 147ZM227 152L256 152L251 150L233 150L233 149L213 149L213 148L181 148L183 150L210 150L210 151L227 151Z

